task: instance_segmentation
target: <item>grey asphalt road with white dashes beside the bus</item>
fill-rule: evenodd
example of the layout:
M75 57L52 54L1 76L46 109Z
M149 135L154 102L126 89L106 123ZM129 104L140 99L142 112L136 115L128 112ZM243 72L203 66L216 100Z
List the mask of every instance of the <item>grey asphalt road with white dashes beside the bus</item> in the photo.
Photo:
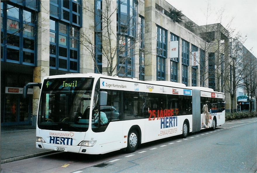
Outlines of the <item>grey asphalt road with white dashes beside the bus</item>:
M1 165L1 172L253 172L257 170L257 118L142 144L131 154L54 153Z

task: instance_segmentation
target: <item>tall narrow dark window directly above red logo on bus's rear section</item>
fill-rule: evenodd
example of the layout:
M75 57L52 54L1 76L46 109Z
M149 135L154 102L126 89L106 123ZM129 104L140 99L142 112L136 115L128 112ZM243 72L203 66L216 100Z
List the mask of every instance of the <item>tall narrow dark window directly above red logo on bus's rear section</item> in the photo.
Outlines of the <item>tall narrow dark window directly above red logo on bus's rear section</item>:
M209 75L209 88L215 90L215 54L209 53L208 61L208 75Z

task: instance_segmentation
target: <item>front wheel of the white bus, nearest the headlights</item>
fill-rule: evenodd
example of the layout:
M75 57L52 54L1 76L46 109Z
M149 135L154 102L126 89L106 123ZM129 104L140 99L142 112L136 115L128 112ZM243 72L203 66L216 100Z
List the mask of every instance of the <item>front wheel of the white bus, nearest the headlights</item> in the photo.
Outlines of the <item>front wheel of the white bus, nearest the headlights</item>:
M128 146L126 148L127 153L133 153L136 151L139 145L138 132L135 129L129 131L128 134Z

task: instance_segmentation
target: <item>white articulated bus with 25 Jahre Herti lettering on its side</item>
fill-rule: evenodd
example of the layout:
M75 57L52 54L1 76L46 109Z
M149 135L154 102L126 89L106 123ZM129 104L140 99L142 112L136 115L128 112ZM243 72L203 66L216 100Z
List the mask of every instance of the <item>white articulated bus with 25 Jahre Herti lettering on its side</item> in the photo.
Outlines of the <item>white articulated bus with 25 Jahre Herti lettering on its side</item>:
M41 88L36 147L86 154L125 148L225 123L225 95L167 81L100 74L48 76ZM100 112L100 113L99 113Z

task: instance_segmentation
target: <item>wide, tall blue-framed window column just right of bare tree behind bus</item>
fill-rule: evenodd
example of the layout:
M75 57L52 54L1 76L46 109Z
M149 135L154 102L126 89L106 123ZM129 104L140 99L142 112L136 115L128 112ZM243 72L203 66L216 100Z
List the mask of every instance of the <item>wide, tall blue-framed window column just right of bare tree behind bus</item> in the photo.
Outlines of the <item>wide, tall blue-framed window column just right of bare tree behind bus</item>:
M136 0L117 0L117 57L119 76L133 77L136 37Z

